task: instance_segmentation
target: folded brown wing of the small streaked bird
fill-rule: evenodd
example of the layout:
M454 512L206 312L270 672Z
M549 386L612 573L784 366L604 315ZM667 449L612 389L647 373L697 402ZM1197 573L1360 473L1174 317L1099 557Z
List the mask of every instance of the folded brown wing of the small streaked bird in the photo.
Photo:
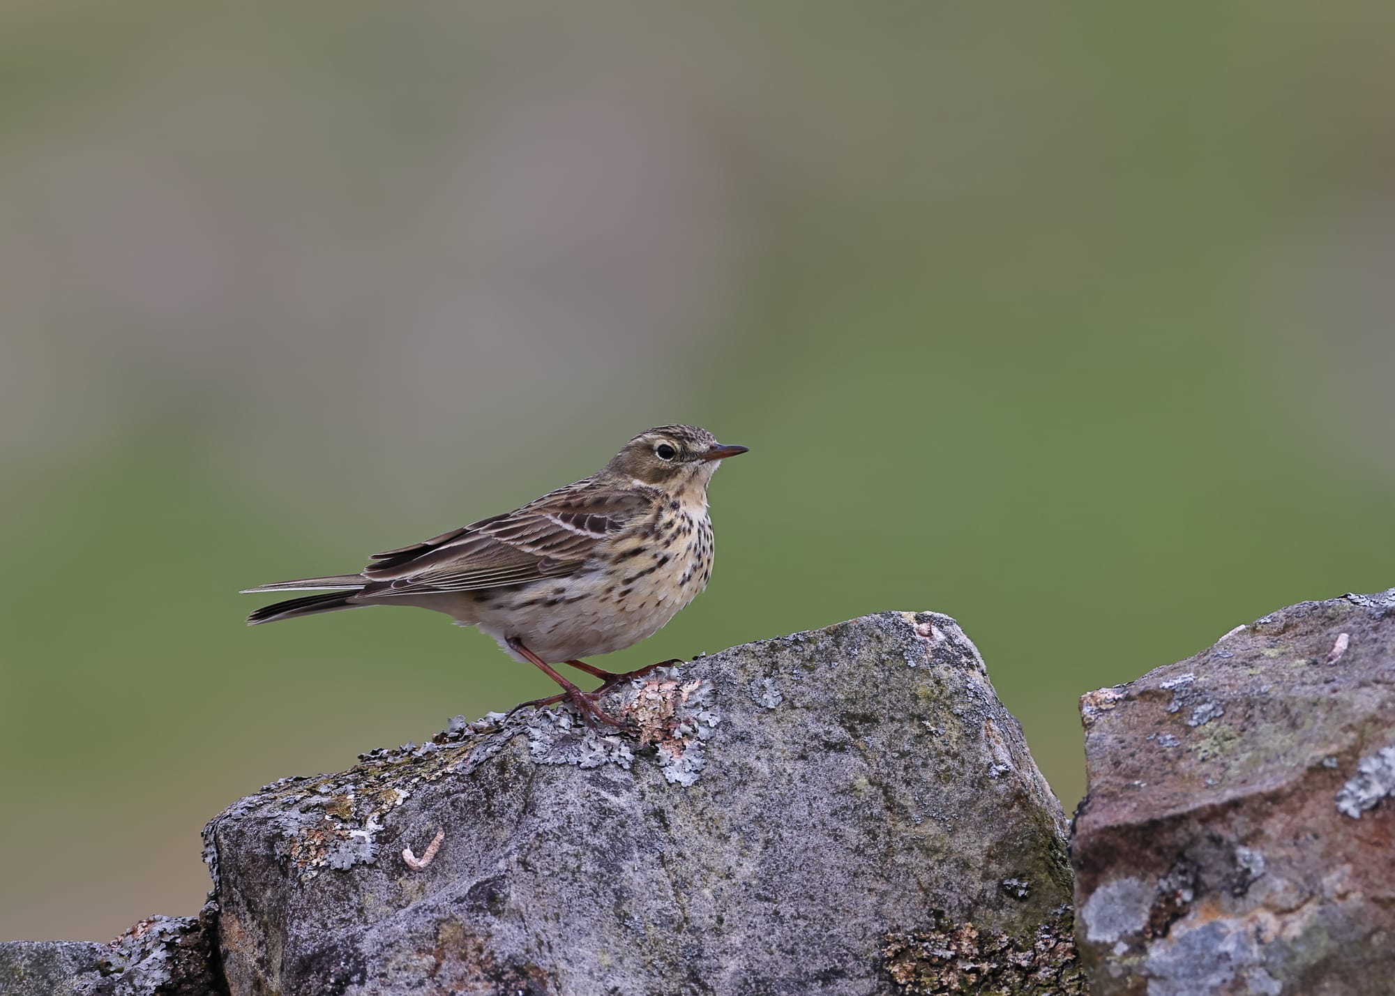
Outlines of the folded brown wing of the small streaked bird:
M638 491L578 481L520 509L374 555L363 594L393 597L522 584L569 575L596 544L653 508Z

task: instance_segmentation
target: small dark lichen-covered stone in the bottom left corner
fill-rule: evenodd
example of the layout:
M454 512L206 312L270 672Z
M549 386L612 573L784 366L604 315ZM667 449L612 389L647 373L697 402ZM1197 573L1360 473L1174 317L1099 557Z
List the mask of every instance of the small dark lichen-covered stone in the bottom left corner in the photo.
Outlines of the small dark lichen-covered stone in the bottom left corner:
M0 996L220 996L211 914L142 919L110 944L0 944Z

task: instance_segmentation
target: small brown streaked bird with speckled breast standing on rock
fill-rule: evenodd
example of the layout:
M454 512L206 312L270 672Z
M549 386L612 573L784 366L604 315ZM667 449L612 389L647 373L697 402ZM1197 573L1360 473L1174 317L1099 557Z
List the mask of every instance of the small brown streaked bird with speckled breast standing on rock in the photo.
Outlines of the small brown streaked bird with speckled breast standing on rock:
M562 692L523 706L571 703L624 728L598 699L658 664L612 672L582 660L654 635L707 586L713 529L707 484L724 459L748 452L696 425L633 437L597 473L512 512L374 554L353 575L301 578L243 594L321 591L258 608L248 625L368 605L413 605L476 626ZM664 661L670 664L672 661ZM603 679L583 692L552 665Z

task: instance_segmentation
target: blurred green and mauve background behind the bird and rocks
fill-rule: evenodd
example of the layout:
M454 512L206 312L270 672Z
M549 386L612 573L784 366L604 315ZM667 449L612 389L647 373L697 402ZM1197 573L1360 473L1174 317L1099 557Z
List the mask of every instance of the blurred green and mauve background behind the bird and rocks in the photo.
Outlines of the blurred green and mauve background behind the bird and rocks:
M0 13L0 939L206 889L285 774L548 692L259 582L633 432L752 448L638 667L862 612L1076 700L1395 584L1395 7Z

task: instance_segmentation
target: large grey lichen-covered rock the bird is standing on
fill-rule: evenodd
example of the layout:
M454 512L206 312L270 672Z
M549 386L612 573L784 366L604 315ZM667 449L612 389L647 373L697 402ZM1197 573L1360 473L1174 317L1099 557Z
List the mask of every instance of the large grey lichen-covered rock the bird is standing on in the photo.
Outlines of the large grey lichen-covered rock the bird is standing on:
M1060 806L949 617L735 647L605 707L639 734L460 720L215 817L232 993L1080 990Z

